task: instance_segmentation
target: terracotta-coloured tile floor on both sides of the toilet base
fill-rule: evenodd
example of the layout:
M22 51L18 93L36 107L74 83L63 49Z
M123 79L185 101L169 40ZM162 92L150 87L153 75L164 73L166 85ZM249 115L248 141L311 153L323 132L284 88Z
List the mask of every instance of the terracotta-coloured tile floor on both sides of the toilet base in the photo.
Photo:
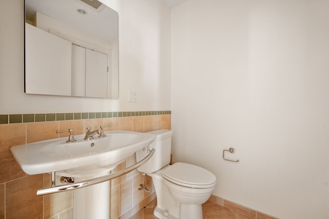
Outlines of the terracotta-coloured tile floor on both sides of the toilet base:
M153 209L156 206L156 198L147 204L143 209L139 210L130 219L157 219L153 215ZM246 216L231 209L216 205L207 201L202 205L204 219L251 219L252 217Z

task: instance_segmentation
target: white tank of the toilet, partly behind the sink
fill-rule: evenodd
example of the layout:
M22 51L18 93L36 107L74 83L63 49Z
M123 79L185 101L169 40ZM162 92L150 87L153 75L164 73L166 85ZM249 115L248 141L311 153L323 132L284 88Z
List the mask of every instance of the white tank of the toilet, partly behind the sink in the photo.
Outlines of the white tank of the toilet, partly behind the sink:
M138 167L137 170L143 173L153 173L170 163L171 136L173 132L171 130L161 129L147 133L156 135L154 142L150 144L150 150L154 148L155 152L150 160ZM136 161L139 162L145 156L149 155L147 151L148 148L137 151Z

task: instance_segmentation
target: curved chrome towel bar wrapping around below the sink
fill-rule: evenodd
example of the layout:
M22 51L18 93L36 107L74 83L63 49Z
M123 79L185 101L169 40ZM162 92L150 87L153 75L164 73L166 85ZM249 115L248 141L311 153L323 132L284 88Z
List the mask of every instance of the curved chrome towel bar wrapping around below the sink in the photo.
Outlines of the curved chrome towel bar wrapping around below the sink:
M134 169L138 168L139 166L141 166L142 164L147 162L151 158L151 156L154 154L154 152L155 152L155 149L153 148L151 150L150 154L147 155L145 158L143 158L143 160L141 160L140 162L138 162L130 167L127 167L124 170L120 170L118 172L111 173L111 174L108 174L105 176L93 178L92 180L85 181L85 182L78 182L78 183L72 183L72 184L68 184L68 185L56 186L54 183L54 181L55 181L54 178L55 178L56 172L51 172L52 186L38 189L38 191L36 191L36 195L45 195L45 194L51 194L51 193L57 193L57 192L64 192L64 191L68 191L68 190L80 189L80 188L84 188L87 186L92 186L95 184L99 184L99 183L103 183L103 182L112 180L114 178L122 176L122 175L129 173L129 172L133 171Z

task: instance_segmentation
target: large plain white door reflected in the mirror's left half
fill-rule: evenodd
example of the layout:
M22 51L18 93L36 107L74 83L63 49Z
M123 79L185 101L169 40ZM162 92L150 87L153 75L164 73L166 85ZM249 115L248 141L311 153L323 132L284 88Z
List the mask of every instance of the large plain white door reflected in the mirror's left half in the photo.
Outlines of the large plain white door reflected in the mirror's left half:
M72 43L25 24L25 92L71 95Z

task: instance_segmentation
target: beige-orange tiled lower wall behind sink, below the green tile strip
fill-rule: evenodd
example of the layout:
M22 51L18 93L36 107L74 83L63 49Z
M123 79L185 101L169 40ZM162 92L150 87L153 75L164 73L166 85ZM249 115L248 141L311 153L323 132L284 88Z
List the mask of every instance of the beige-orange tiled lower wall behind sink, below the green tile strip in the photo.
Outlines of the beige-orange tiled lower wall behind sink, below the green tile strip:
M92 120L71 120L40 123L17 123L0 125L0 219L10 218L72 218L73 192L67 191L36 196L36 190L50 186L50 175L27 175L15 162L9 148L51 138L68 136L56 134L56 130L74 128L75 135L83 134L86 127L108 126L111 130L147 132L171 129L171 115L147 115ZM136 163L135 156L120 164L115 170ZM147 183L151 192L138 190L139 184ZM112 180L111 218L129 218L155 197L152 178L142 176L137 170Z

